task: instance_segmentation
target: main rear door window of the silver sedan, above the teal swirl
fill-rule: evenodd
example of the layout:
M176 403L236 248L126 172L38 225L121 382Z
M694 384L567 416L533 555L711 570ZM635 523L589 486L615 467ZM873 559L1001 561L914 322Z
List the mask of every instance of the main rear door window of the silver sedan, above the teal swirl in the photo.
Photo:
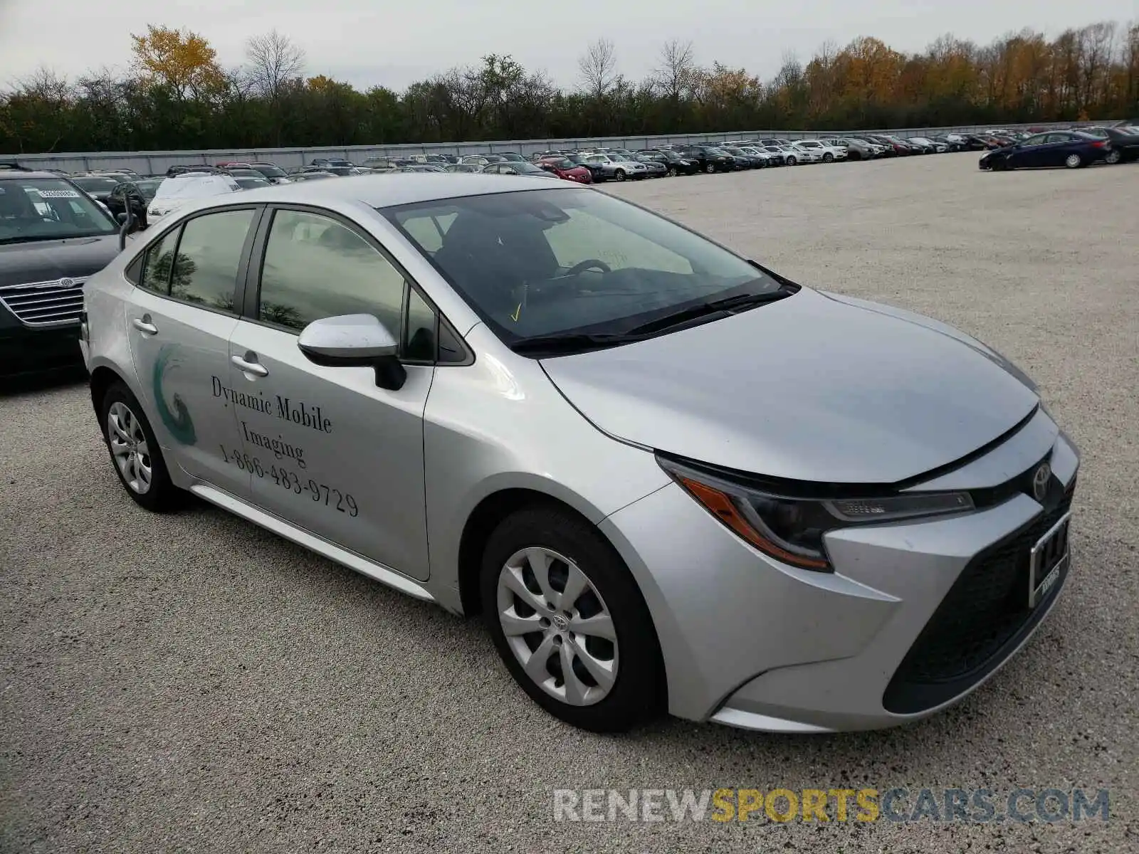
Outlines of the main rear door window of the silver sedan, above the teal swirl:
M195 216L182 225L170 296L216 311L233 311L241 252L253 223L252 210Z

